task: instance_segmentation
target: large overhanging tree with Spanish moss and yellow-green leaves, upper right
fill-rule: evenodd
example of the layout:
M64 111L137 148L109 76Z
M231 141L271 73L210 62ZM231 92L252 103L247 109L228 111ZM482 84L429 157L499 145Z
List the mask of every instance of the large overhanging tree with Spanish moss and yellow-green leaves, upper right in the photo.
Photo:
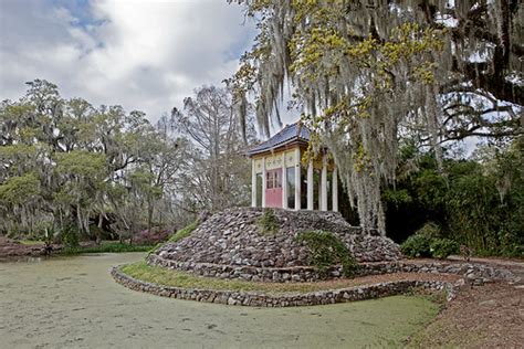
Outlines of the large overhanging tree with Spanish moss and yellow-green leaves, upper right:
M269 134L290 82L303 121L333 152L361 225L385 231L380 187L404 139L441 147L523 131L518 1L239 0L258 22L230 81Z

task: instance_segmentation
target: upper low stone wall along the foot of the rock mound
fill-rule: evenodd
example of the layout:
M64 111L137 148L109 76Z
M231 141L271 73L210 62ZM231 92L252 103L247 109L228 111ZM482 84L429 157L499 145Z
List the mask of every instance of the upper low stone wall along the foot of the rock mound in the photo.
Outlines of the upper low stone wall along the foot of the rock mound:
M294 267L255 267L220 265L212 263L191 263L178 262L150 254L147 257L149 265L157 265L174 269L189 272L199 276L218 278L237 278L249 282L315 282L322 279L314 267L294 266ZM375 262L360 263L356 276L378 275L390 273L443 273L463 275L468 279L476 283L490 282L493 279L511 281L514 275L503 268L495 268L482 264L457 263L457 262L420 262L420 261L399 261L399 262ZM328 271L327 278L342 277L342 267L335 266Z

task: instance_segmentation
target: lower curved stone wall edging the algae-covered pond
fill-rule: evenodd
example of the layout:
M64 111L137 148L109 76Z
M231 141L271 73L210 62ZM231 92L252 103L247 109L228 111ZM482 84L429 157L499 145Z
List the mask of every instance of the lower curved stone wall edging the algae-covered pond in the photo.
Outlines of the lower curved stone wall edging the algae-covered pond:
M458 286L448 282L402 281L304 294L268 295L255 292L186 289L161 286L133 278L124 274L119 267L114 267L111 274L118 284L127 288L161 297L252 307L293 307L346 303L405 294L413 287L434 292L444 290L447 299L451 300L458 290Z

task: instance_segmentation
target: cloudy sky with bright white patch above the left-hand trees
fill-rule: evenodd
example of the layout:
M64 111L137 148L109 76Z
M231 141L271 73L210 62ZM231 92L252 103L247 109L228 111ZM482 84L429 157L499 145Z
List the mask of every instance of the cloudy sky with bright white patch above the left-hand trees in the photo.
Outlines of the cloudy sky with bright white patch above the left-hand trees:
M231 76L254 34L227 0L0 0L0 99L45 78L155 120Z

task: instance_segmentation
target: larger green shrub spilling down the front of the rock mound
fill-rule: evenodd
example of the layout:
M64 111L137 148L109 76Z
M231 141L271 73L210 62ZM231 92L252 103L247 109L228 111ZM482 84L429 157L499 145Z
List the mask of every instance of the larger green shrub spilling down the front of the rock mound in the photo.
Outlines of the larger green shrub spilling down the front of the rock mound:
M358 264L337 235L332 232L310 231L300 233L296 239L306 243L310 248L310 265L315 266L321 275L327 276L329 267L337 264L342 264L344 276L355 275Z

